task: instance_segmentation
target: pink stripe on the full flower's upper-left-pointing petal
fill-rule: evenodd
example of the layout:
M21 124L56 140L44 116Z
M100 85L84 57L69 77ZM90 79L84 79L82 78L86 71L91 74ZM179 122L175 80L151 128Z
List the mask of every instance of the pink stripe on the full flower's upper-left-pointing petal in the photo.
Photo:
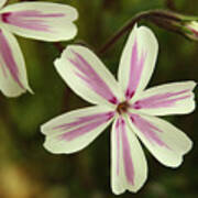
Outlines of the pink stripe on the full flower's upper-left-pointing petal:
M69 62L78 69L76 75L81 78L90 89L97 92L109 102L117 105L119 101L112 94L108 85L100 78L100 76L94 70L89 63L78 53L74 52L75 58Z

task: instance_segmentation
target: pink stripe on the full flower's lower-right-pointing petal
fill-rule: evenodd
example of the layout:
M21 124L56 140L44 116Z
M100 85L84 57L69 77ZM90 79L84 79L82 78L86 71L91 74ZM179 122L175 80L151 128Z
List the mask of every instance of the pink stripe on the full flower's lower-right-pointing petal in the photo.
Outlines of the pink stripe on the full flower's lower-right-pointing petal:
M156 134L156 132L163 133L162 130L160 130L158 128L156 128L155 125L153 125L138 114L131 113L130 119L151 143L156 143L160 146L168 147Z

